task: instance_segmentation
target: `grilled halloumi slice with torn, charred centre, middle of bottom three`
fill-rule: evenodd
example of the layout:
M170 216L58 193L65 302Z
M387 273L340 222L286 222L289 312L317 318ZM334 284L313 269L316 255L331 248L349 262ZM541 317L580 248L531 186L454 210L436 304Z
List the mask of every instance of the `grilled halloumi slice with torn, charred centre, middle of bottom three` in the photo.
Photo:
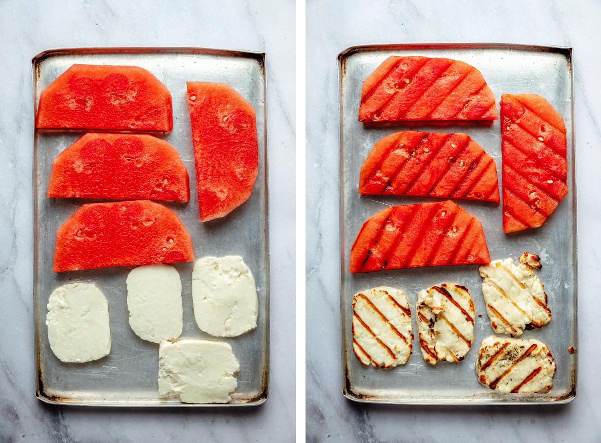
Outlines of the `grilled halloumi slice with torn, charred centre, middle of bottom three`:
M474 342L474 303L468 289L447 283L424 289L415 310L424 360L463 360Z

